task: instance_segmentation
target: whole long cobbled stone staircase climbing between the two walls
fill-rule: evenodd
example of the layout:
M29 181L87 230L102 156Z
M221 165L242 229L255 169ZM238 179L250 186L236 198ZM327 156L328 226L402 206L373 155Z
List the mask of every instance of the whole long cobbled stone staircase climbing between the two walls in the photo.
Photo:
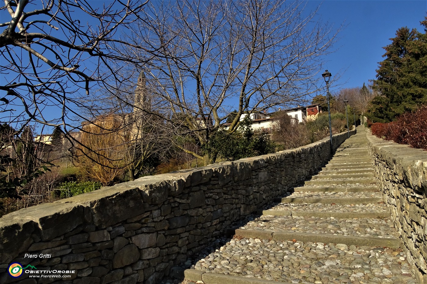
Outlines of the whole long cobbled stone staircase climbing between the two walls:
M182 283L416 283L357 130L318 174L195 261Z

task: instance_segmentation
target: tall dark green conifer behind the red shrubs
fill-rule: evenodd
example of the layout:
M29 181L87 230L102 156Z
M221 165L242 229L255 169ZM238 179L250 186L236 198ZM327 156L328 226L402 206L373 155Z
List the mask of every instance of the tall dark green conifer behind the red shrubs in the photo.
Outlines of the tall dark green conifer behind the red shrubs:
M403 27L391 44L384 47L373 88L375 97L368 110L373 122L390 122L397 116L427 103L427 17L421 24L424 33Z

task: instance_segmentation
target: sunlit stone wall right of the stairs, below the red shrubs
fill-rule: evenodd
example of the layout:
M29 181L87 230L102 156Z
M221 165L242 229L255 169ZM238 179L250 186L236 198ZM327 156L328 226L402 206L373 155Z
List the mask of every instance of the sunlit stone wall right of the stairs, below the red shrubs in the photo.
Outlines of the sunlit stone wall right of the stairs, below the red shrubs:
M369 151L384 200L415 265L427 284L427 152L386 141L367 131Z

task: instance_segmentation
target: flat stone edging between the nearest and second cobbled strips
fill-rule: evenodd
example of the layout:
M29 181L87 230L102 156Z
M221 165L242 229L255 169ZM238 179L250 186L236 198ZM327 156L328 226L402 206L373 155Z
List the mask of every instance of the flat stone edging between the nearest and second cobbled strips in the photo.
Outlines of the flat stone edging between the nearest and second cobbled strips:
M313 243L343 243L347 246L381 246L397 249L400 247L398 238L358 237L332 234L313 234L293 231L267 231L236 229L235 235L244 238L274 239L278 241L301 241Z

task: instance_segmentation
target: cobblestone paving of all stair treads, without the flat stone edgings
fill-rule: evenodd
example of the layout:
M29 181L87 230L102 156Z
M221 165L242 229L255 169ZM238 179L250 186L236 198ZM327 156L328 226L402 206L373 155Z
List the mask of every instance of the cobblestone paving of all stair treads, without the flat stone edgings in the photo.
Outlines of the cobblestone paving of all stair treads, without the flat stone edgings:
M356 157L357 159L358 156L366 156L368 153L366 149L366 133L363 127L358 127L358 133L347 139L337 150L336 155L340 158ZM363 165L362 168L360 168L361 165ZM339 168L334 169L333 167ZM332 160L323 169L328 174L348 174L346 171L357 170L357 174L360 175L361 172L363 173L360 171L361 169L371 174L373 168L369 162L340 162L337 164ZM322 171L319 174L322 174ZM312 179L312 181L314 180ZM334 183L334 181L342 180L348 180L348 183ZM365 180L370 180L372 183L357 182ZM294 188L294 192L285 194L283 197L348 197L353 198L352 200L354 198L381 197L373 177L333 178L328 180L327 184L324 181L325 179L322 179L322 184L300 185ZM361 192L346 192L357 189L360 189ZM298 190L304 190L304 192ZM315 200L315 202L318 201ZM248 232L255 233L260 231L260 234L265 231L273 231L347 236L345 238L354 236L398 239L399 235L391 217L380 219L340 217L340 214L346 213L384 214L389 212L383 203L351 204L352 201L349 200L350 204L337 205L326 201L330 200L322 203L270 203L263 209L288 213L319 212L319 215L322 212L334 212L338 216L324 217L313 214L312 217L298 217L250 214L245 220L237 223L237 227L245 229L239 231L241 235L235 235L231 239L219 239L217 243L207 247L199 255L189 258L186 268L222 275L300 284L417 283L413 277L412 268L407 262L406 254L401 249L362 246L366 243L360 244L360 246L345 243L318 243L316 239L305 242L296 239L280 241L275 239L276 233L268 240L262 237L244 236L245 231L248 230ZM298 235L295 236L298 238ZM313 238L316 238L316 235ZM189 282L186 281L169 280L164 283L188 284Z

